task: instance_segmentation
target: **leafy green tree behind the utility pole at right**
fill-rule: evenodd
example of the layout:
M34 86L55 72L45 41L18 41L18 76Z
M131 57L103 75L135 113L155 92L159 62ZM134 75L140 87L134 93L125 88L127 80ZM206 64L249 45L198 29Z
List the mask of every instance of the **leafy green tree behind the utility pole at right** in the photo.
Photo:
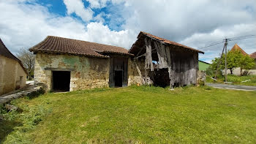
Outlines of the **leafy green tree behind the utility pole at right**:
M225 54L222 56L222 62L219 64L220 58L214 58L212 60L211 67L216 72L216 70L225 69ZM219 68L217 69L217 64ZM230 73L233 74L233 69L236 67L241 67L242 69L252 69L254 66L254 60L249 56L244 56L240 50L232 50L227 53L227 69L230 69Z

